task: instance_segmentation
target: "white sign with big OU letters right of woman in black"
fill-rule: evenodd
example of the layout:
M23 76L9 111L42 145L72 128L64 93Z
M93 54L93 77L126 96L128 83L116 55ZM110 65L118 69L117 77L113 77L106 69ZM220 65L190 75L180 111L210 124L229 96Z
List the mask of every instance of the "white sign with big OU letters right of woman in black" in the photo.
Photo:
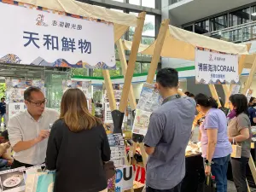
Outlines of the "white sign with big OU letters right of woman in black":
M133 166L124 166L116 169L115 192L122 192L133 188Z

